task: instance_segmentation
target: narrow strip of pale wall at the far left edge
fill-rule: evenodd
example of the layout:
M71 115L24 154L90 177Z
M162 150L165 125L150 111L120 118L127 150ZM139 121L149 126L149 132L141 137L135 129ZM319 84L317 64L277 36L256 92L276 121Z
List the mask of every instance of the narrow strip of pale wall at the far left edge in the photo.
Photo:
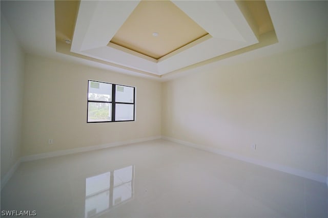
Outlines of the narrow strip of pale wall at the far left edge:
M24 52L1 15L1 179L20 156Z

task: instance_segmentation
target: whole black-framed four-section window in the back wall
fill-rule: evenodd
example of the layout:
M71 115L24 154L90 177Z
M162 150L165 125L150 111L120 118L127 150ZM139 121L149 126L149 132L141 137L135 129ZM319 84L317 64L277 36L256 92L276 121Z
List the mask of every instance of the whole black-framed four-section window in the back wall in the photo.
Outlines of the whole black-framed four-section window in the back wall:
M135 88L88 81L87 122L134 121Z

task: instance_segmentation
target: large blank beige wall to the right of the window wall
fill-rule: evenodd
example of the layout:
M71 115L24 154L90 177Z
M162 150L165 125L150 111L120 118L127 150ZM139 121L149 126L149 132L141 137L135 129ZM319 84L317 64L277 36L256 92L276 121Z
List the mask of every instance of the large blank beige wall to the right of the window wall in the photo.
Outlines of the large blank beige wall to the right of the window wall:
M325 53L322 42L163 83L162 135L326 176Z

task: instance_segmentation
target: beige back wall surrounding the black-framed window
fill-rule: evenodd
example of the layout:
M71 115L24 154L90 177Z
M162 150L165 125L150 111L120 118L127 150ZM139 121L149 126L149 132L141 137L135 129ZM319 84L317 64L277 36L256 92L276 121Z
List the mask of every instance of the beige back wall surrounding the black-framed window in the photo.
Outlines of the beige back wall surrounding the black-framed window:
M136 86L136 121L87 123L88 79ZM22 155L161 135L161 85L80 64L27 55ZM53 144L48 144L53 139Z

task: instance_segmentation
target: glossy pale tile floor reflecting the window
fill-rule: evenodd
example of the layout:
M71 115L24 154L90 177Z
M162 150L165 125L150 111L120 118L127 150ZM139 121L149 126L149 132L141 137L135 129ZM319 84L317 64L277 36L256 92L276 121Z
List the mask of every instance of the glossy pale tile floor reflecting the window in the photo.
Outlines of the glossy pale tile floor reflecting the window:
M166 140L22 163L2 210L36 217L328 217L327 186Z

